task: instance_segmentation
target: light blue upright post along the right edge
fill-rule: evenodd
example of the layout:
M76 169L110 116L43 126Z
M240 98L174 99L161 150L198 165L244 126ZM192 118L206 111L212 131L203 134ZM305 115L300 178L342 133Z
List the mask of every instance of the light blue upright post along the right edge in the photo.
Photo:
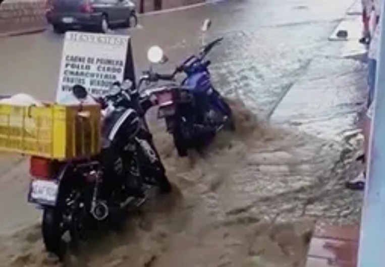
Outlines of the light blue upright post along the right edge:
M358 267L385 267L385 1L379 21L379 57L371 125L369 168L362 210Z

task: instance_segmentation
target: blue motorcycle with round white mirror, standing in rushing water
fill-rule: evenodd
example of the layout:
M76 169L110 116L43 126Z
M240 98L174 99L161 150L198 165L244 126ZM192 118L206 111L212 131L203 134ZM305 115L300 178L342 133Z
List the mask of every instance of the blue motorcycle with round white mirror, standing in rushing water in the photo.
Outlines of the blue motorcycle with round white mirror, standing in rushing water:
M210 24L206 20L202 31L207 31ZM172 74L156 73L150 66L140 77L139 88L143 83L172 82L146 91L156 95L158 119L166 121L167 131L172 134L181 157L187 156L188 149L200 150L205 147L221 129L235 130L232 110L212 85L208 69L211 62L206 60L209 52L223 39L217 38L203 45L197 55L185 60ZM168 61L159 46L150 47L147 58L152 64ZM175 78L180 73L186 77L178 84Z

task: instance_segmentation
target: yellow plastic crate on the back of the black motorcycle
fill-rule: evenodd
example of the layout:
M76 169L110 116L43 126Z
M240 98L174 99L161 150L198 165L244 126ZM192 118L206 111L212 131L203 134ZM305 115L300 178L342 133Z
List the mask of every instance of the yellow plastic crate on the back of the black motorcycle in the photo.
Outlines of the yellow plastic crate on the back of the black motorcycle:
M100 107L0 104L0 151L66 160L100 151Z

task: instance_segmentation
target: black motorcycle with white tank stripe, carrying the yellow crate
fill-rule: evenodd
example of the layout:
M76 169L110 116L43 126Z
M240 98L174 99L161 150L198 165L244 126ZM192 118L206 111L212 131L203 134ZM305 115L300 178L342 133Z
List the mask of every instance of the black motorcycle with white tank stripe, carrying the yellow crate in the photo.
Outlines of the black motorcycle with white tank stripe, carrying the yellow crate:
M64 255L65 233L76 244L89 226L113 223L114 215L143 204L151 187L163 193L172 190L144 116L135 114L130 91L122 87L116 83L107 95L94 98L101 104L103 115L99 154L70 162L30 158L28 201L43 209L46 250L60 258ZM80 102L88 96L82 86L74 87L73 94ZM145 97L137 100L137 104L149 106ZM77 116L82 119L87 114L79 111ZM36 186L39 183L45 186ZM45 188L46 192L34 188Z

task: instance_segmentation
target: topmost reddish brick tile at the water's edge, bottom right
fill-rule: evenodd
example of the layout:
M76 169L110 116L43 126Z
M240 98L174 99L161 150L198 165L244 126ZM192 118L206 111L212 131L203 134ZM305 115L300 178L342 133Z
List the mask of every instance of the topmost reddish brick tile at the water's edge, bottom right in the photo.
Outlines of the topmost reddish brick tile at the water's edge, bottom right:
M314 237L358 241L360 236L359 225L328 226L318 224L314 230Z

